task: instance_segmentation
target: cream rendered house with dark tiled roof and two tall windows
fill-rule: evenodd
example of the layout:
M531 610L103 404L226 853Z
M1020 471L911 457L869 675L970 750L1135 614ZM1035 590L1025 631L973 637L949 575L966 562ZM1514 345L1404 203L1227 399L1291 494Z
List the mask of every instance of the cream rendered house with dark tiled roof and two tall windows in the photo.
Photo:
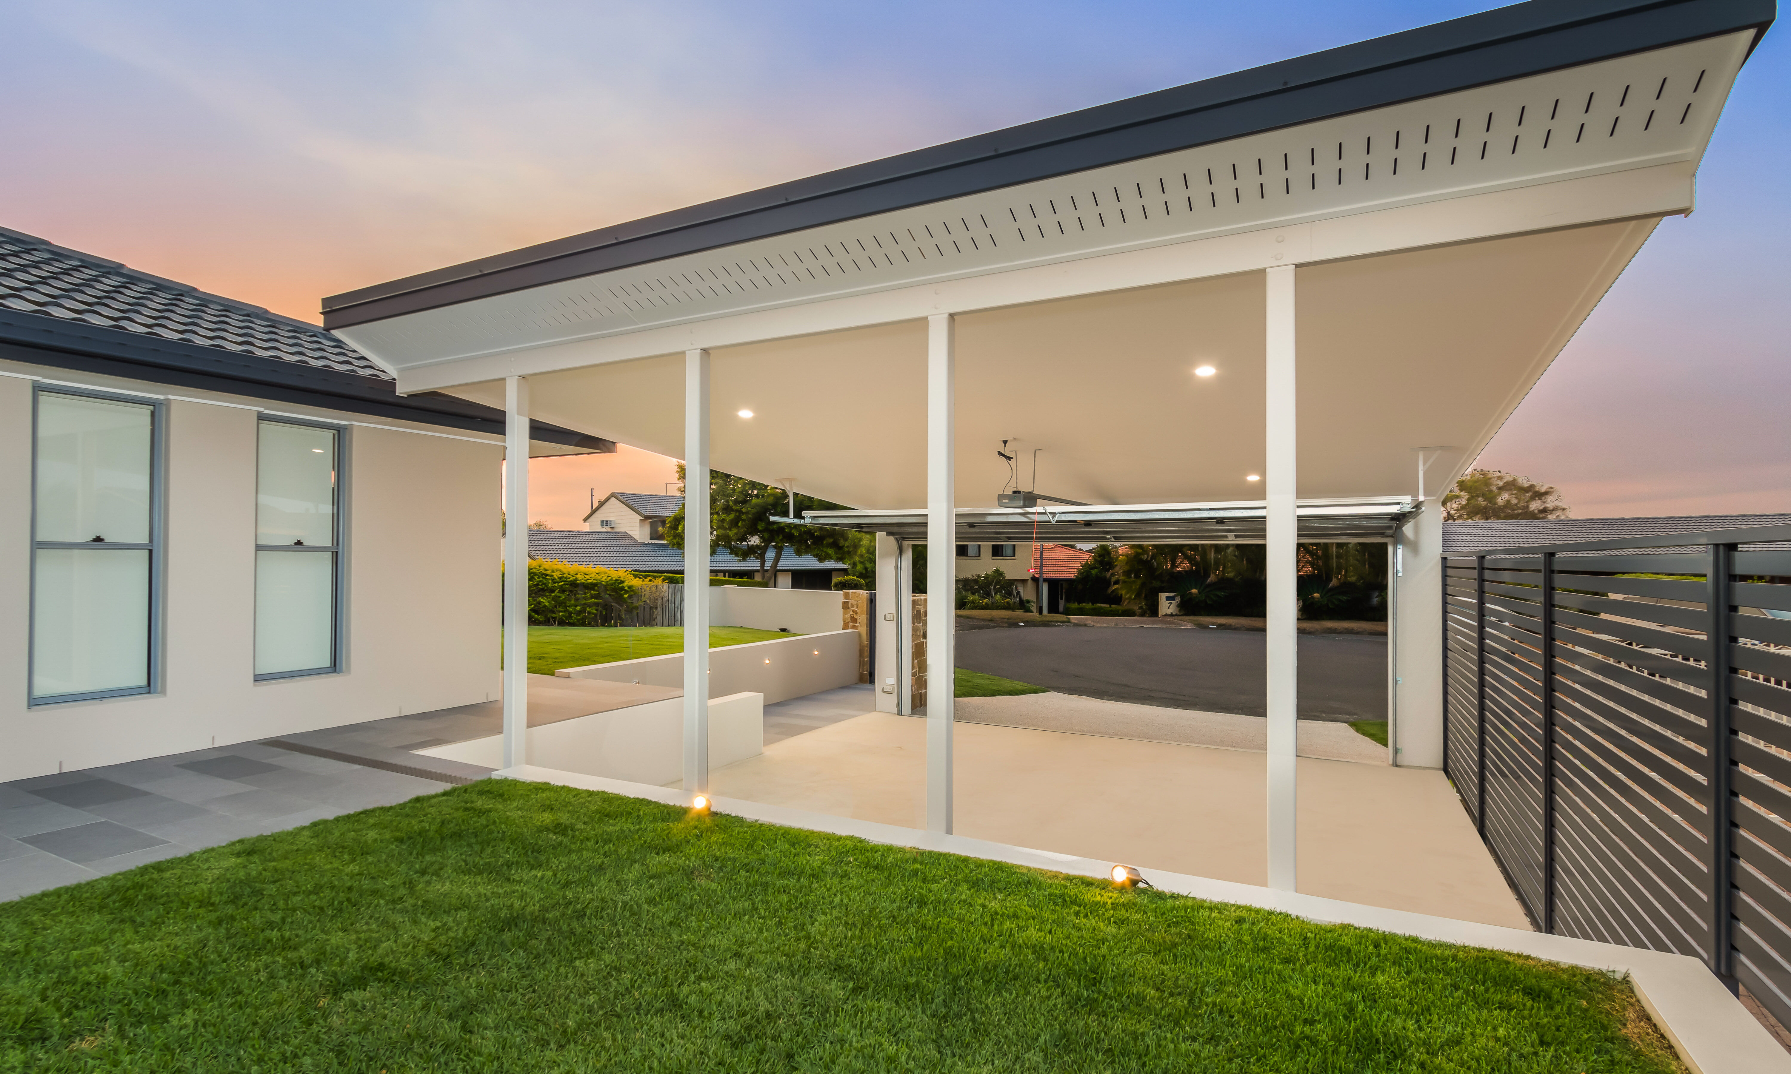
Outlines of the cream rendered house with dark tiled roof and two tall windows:
M0 780L496 698L501 460L330 331L0 229Z

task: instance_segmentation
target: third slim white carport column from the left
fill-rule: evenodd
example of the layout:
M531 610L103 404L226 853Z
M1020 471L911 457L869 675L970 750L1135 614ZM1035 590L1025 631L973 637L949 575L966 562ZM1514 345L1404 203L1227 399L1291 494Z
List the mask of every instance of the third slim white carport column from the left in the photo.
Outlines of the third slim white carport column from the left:
M953 319L926 319L926 831L951 834L951 716L956 691L953 508Z

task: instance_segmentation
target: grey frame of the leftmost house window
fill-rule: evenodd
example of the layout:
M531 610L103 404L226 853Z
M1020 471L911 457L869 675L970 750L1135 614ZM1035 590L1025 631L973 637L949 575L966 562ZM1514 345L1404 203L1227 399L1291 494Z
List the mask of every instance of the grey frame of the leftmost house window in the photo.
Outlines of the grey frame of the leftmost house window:
M38 541L38 444L39 415L43 396L77 396L84 399L106 399L111 403L131 403L149 408L149 541L147 542L107 542L113 551L149 553L149 646L145 662L145 684L124 686L116 689L90 689L68 695L38 696L38 551L39 550L88 550L99 551L90 541ZM59 385L36 381L30 387L30 596L25 601L25 707L39 709L47 705L68 705L72 702L100 702L107 698L138 698L159 695L163 689L163 626L165 626L165 575L167 575L167 421L168 405L159 396L140 396L134 392L104 392L77 385Z

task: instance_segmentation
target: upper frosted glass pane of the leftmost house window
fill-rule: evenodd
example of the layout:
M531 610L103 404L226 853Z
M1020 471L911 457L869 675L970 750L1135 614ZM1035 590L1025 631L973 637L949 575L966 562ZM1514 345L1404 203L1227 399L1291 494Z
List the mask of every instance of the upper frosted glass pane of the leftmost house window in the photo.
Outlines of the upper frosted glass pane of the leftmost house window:
M154 417L143 403L38 394L38 541L149 542Z

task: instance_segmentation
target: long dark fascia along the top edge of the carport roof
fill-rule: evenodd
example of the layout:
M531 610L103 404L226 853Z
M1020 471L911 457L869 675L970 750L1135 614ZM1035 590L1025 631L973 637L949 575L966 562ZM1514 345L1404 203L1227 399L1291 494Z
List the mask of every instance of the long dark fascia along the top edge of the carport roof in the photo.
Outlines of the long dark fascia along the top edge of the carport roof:
M1775 0L1530 0L324 299L346 328L1735 30Z

